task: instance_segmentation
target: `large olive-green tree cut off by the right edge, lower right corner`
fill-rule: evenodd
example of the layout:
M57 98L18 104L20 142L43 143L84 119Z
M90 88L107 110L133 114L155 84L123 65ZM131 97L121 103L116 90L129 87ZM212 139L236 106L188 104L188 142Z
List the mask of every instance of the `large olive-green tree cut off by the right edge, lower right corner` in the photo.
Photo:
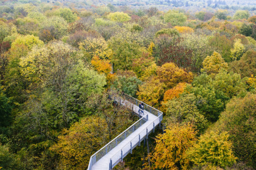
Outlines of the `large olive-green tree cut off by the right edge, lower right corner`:
M239 160L256 168L256 94L233 98L215 123L214 130L228 131Z

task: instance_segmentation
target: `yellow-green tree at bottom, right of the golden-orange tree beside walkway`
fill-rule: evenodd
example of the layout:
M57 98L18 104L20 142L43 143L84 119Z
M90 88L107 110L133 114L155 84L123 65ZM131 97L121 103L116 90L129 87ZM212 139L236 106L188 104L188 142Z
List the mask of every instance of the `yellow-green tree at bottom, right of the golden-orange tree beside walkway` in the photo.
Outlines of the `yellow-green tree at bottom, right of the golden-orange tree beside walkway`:
M232 166L237 159L226 131L210 131L200 136L198 142L189 149L188 158L197 165L210 163L220 167Z

